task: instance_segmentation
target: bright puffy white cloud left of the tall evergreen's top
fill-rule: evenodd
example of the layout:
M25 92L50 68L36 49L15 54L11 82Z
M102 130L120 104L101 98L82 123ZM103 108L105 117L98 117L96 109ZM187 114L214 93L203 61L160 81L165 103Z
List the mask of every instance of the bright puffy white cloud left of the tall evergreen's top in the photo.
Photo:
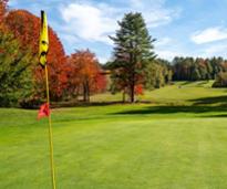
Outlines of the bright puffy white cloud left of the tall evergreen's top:
M74 33L83 40L111 44L107 35L115 31L116 21L107 17L106 10L102 11L90 4L71 3L61 9L61 13L68 25L64 28L65 32Z

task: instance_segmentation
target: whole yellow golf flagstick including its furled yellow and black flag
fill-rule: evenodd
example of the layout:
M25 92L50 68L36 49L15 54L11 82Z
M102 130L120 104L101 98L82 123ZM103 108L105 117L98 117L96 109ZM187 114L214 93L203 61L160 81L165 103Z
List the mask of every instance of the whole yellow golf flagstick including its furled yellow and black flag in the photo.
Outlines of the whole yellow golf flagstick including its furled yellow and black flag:
M41 32L40 32L40 50L39 57L40 64L45 70L45 87L47 87L47 103L50 107L50 93L49 93L49 75L47 66L47 54L49 49L49 38L48 38L48 19L44 11L41 11ZM50 164L51 164L51 177L52 177L52 187L55 186L55 171L54 171L54 161L53 161L53 134L52 134L52 124L51 124L51 114L49 114L49 145L50 145Z

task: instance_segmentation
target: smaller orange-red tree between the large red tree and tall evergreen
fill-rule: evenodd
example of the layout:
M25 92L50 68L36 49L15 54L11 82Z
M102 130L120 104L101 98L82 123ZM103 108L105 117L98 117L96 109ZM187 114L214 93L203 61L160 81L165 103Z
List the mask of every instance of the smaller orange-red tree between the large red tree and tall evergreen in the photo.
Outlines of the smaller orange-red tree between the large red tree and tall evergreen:
M83 94L83 101L90 102L91 93L103 92L106 87L106 78L102 74L94 53L76 51L68 59L70 65L70 82L68 90L78 96Z

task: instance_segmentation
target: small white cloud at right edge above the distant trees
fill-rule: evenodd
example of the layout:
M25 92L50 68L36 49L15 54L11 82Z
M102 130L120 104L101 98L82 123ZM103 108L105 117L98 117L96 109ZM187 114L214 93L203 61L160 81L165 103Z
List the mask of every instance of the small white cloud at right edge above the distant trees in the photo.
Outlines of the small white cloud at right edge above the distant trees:
M203 31L197 31L190 36L196 44L209 43L227 39L227 29L221 27L208 28Z

